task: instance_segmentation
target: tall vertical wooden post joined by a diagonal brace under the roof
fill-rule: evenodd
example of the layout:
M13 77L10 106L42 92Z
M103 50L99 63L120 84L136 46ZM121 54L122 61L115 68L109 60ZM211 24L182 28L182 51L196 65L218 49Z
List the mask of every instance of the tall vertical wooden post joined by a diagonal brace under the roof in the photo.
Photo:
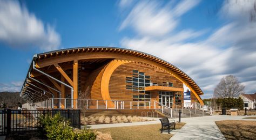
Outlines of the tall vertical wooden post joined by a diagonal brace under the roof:
M73 108L77 108L77 98L78 98L78 60L74 60L73 63Z

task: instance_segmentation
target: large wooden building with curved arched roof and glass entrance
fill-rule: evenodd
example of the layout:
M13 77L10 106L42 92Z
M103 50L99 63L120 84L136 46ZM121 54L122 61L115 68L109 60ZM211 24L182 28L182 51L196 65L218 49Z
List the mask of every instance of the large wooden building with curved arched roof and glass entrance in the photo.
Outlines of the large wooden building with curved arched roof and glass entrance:
M185 102L204 104L197 83L169 62L130 49L83 47L34 55L20 95L48 108L174 108L184 106L184 86Z

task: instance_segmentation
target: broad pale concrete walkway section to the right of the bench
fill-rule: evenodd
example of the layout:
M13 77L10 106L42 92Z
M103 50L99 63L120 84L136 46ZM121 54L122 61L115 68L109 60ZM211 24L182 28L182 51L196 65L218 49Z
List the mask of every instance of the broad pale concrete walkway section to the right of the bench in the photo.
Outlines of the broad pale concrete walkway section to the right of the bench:
M186 122L176 134L171 138L176 139L225 139L220 132L215 121L221 120L250 120L254 119L242 119L246 116L227 116L227 115L213 115L204 117L191 117L181 118L181 122Z

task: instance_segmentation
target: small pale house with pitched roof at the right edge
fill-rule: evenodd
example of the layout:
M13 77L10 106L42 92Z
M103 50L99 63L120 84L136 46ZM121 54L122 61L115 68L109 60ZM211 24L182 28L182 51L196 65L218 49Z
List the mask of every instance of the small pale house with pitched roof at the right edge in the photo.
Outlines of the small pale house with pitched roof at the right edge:
M244 109L256 109L256 93L241 94L240 97L244 101Z

